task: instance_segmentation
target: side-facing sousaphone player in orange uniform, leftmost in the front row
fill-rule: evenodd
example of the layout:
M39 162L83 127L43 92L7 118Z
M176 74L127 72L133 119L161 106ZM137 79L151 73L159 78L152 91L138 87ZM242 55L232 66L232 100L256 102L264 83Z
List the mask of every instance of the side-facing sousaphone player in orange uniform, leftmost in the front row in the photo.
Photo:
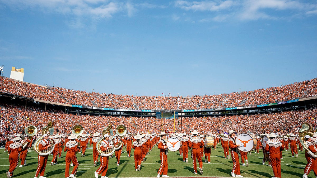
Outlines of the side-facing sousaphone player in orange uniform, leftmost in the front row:
M39 141L39 150L40 151L44 151L52 146L49 144L48 139L49 139L49 134L44 134L43 139L41 141ZM48 158L48 155L44 155L44 156L39 155L38 156L38 166L37 166L34 178L37 178L37 176L39 176L39 175L40 175L39 178L46 178L43 175L45 172L47 158Z

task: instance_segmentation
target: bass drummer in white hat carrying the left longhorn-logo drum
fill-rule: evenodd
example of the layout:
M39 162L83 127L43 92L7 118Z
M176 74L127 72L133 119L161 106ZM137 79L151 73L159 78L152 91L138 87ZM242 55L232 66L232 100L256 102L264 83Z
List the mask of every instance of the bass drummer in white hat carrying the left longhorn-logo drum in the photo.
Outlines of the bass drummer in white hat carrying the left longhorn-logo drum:
M168 149L167 149L167 145L165 143L166 135L167 134L165 132L161 132L159 134L160 140L158 143L158 148L159 148L159 157L161 159L161 166L159 167L157 178L159 178L159 176L161 174L163 174L162 177L169 177L167 175L167 169L168 169L167 152L168 152Z

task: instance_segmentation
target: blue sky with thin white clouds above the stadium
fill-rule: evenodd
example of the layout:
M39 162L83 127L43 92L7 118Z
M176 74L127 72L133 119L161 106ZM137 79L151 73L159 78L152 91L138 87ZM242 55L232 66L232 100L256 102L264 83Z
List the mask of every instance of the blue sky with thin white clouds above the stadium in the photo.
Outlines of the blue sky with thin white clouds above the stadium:
M317 77L309 0L1 0L0 65L87 92L219 94ZM177 94L179 93L179 94Z

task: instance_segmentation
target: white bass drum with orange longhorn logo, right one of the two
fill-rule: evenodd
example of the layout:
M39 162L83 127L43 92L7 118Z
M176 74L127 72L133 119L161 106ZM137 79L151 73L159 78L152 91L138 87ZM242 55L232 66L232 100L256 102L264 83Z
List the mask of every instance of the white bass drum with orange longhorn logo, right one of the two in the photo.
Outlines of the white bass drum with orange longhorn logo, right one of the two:
M236 144L240 145L240 151L249 152L256 149L256 137L248 133L241 133L236 137Z

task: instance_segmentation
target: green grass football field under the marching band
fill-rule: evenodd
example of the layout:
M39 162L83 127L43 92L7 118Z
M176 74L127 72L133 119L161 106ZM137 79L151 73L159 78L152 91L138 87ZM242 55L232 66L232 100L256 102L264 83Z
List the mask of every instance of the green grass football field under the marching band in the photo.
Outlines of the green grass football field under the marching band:
M155 147L150 151L149 155L146 155L146 161L141 163L141 171L135 171L134 168L134 158L133 150L131 157L127 157L126 148L123 148L123 153L121 154L120 166L117 166L116 158L113 157L109 159L109 167L107 171L107 176L110 177L156 177L157 171L160 166L159 159L159 149ZM77 154L79 161L79 167L76 177L82 178L94 178L94 171L99 167L100 162L97 167L94 167L93 149L88 146L86 150L86 156L81 157L81 154ZM49 178L61 178L65 177L65 152L62 152L61 159L58 160L58 164L51 166L53 156L49 156L45 174ZM37 168L37 154L33 149L30 149L27 155L27 166L22 168L17 167L14 171L14 177L30 177L35 176ZM188 163L183 162L183 157L179 156L179 152L169 152L168 153L168 175L170 177L230 177L230 172L232 170L232 160L224 159L223 149L220 143L217 144L216 150L211 150L211 163L207 164L204 162L203 158L203 175L193 174L193 164L189 153ZM241 165L240 159L240 170L241 175L244 177L269 177L273 176L272 168L268 166L267 162L262 165L262 150L259 154L252 152L252 155L248 154L249 166L244 167ZM0 177L6 177L6 172L9 170L9 155L8 152L4 152L4 149L0 149ZM100 161L100 159L98 159ZM19 162L20 165L21 162ZM290 151L283 151L283 159L281 159L281 172L282 177L302 177L304 168L306 166L305 152L299 152L298 158L293 158ZM198 165L198 162L197 162ZM72 170L73 167L70 167ZM71 172L71 171L70 171ZM99 175L101 177L101 175ZM314 172L311 171L308 177L315 178Z

